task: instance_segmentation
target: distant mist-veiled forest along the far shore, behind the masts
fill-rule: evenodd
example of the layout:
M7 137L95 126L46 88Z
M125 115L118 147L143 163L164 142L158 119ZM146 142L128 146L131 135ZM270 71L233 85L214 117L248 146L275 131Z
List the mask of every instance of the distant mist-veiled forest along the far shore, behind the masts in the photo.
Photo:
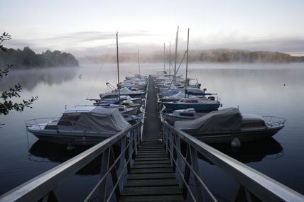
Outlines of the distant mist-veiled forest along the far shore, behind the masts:
M185 52L178 54L178 61L182 60ZM106 58L106 59L104 59ZM141 62L163 62L163 51L140 53ZM91 55L80 57L80 62L116 62L116 55ZM137 62L137 52L119 53L119 62ZM165 55L166 62L169 62L168 54ZM171 52L171 62L174 60L174 52ZM184 58L185 61L185 58ZM270 51L249 51L233 49L214 49L214 50L189 50L189 62L259 62L259 63L288 63L304 62L304 57L295 57L283 52Z

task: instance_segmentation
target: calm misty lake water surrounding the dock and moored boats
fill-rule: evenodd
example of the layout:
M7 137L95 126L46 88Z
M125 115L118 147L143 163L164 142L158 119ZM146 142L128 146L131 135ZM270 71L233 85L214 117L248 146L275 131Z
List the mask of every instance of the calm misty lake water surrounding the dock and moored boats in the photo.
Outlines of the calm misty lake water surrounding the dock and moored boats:
M168 66L167 66L168 67ZM142 74L163 69L163 64L141 64ZM271 140L243 144L239 149L215 145L273 179L304 194L304 67L303 64L190 64L207 92L217 93L222 108L239 107L242 113L287 118L286 127ZM137 73L136 64L120 64L120 77ZM181 67L185 74L185 68ZM84 148L67 151L65 146L45 144L26 133L24 120L58 117L65 109L89 104L116 84L115 64L82 64L81 67L11 70L0 90L18 82L21 96L38 96L33 108L0 116L0 195L34 176L77 155ZM285 85L284 85L285 84ZM235 182L214 165L201 159L202 176L220 201L232 200ZM82 201L99 179L99 165L89 164L58 187L64 201ZM215 180L216 179L216 180ZM77 191L74 191L77 189Z

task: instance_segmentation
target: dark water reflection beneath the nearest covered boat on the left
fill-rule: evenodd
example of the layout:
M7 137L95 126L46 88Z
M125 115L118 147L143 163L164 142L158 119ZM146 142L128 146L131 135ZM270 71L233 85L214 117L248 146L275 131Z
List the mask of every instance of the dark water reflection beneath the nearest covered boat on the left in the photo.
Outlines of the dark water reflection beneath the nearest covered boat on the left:
M53 142L46 142L43 140L37 140L30 148L28 152L28 159L35 162L58 162L63 163L76 155L89 149L89 147L75 147L73 150L67 150L67 145L60 145ZM114 155L118 156L119 147L114 147ZM100 167L102 163L102 157L99 156L89 162L85 167L80 169L77 175L96 175L100 174Z

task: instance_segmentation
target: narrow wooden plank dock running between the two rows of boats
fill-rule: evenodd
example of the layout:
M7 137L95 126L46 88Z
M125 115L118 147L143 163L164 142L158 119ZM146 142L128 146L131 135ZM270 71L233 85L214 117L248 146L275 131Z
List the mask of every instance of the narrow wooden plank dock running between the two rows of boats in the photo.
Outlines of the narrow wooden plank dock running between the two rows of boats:
M156 89L149 78L143 142L119 201L185 201L161 142Z

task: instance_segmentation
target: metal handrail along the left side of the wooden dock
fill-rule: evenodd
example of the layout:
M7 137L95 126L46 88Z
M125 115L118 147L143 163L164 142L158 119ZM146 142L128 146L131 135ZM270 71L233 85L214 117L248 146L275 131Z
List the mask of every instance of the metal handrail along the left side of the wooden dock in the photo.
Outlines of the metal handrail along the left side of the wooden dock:
M58 165L57 167L54 167L53 169L48 170L47 172L40 174L39 176L36 176L35 178L31 179L30 181L27 181L24 184L21 184L20 186L16 187L15 189L12 189L11 191L4 193L4 195L0 196L0 202L4 201L38 201L41 198L48 197L48 194L51 193L57 186L60 184L60 182L64 181L64 179L67 179L68 176L75 174L78 170L82 169L82 167L85 167L89 162L92 162L93 159L98 157L99 155L102 155L104 158L104 152L110 152L110 148L112 145L114 145L116 142L123 142L122 138L125 138L124 140L128 142L133 142L134 138L136 138L136 143L134 145L137 145L138 142L141 142L141 123L136 123L135 125L131 125L126 130L123 130L119 133L116 133L116 135L113 135L112 137L107 138L106 140L100 142L98 145L95 145L94 147L89 148L85 152L82 152L80 155L77 155L76 157L73 157L72 159L67 160L66 162L63 162L63 164ZM133 132L136 133L133 133ZM132 133L133 135L130 135L130 138L133 139L129 141L127 139L127 133ZM136 137L134 137L136 135ZM130 146L131 145L131 146ZM128 150L129 147L133 147L133 144L127 144L125 146L125 149ZM131 148L133 149L133 148ZM126 151L124 150L124 151ZM137 151L136 146L134 146L134 150ZM124 152L123 152L124 153ZM109 154L109 153L108 153ZM105 155L106 157L107 155ZM128 155L129 157L132 157L131 155ZM126 159L127 161L128 159ZM117 162L114 160L114 162ZM113 163L114 163L113 162ZM102 167L105 167L108 170L108 167L111 167L111 165L102 165ZM128 165L129 167L129 165ZM101 171L102 172L102 171ZM109 172L104 172L109 173ZM105 181L104 183L106 183ZM105 189L106 186L104 186Z

